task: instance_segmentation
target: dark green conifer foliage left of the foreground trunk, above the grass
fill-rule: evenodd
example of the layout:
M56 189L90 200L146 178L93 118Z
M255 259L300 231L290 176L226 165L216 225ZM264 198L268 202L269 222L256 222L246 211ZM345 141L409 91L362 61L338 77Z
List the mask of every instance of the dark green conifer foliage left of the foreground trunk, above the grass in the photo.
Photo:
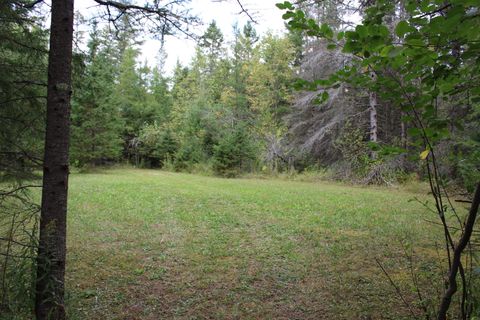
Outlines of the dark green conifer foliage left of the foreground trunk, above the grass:
M41 166L47 82L41 23L15 1L0 3L0 182L22 183Z

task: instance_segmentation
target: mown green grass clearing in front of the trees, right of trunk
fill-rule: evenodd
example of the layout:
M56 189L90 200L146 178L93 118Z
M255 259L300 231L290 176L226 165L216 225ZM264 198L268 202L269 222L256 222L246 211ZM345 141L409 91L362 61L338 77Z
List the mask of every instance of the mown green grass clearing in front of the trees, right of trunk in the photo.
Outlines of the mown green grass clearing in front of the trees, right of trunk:
M408 319L405 247L435 220L394 188L155 170L74 174L71 319ZM403 243L403 245L402 245ZM408 249L410 250L410 249ZM428 258L430 257L430 258Z

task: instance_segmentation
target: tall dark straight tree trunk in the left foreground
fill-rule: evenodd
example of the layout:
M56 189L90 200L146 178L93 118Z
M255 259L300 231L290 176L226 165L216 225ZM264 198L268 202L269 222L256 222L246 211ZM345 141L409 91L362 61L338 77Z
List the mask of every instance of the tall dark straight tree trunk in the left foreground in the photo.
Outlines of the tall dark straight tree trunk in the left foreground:
M52 0L47 125L35 314L65 319L64 277L68 190L73 0Z

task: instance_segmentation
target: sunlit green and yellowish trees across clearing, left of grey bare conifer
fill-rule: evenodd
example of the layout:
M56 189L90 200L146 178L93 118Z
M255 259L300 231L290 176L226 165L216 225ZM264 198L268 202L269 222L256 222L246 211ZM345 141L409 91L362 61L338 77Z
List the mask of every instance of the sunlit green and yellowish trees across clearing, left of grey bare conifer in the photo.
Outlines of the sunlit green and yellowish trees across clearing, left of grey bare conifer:
M287 36L260 39L248 22L233 26L225 43L212 21L192 61L177 62L167 78L161 66L138 61L136 32L120 30L113 36L94 25L87 52L76 53L73 165L204 165L235 176L267 163L262 155L285 133L292 100L295 47Z

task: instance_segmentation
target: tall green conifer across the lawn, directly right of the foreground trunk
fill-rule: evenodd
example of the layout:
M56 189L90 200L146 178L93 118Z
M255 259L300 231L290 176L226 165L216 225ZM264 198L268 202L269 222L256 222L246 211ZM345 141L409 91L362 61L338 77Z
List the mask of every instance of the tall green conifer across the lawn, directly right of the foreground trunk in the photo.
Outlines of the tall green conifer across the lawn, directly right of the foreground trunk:
M75 79L72 101L71 162L102 164L117 160L122 151L123 121L113 102L115 64L108 39L100 38L94 26L89 53L81 75Z

